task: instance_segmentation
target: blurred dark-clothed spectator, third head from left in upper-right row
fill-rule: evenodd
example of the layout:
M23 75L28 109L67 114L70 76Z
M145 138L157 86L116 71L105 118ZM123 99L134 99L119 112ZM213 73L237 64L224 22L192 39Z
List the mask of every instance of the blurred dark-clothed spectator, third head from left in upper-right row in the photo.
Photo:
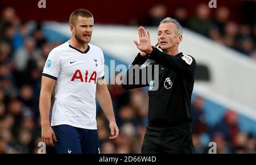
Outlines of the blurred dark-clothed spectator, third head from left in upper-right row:
M210 20L210 9L205 4L200 4L196 8L196 16L189 20L188 28L200 33L204 36L209 36L209 29L212 27Z

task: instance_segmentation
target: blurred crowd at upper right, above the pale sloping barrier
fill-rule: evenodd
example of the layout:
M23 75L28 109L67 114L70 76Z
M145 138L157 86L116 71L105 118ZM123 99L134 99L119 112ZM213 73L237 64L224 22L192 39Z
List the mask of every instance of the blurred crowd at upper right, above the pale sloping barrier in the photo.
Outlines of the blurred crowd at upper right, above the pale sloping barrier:
M174 13L169 15L167 7L162 3L152 6L147 18L143 19L141 24L144 24L144 26L159 26L161 20L170 16L177 19L181 26L209 37L217 43L238 50L247 57L256 60L255 16L247 15L247 20L241 20L241 23L238 24L230 19L231 13L226 7L217 6L216 9L209 9L208 4L200 4L195 6L194 15L188 15L185 6L176 7ZM237 12L241 12L242 15L244 11Z

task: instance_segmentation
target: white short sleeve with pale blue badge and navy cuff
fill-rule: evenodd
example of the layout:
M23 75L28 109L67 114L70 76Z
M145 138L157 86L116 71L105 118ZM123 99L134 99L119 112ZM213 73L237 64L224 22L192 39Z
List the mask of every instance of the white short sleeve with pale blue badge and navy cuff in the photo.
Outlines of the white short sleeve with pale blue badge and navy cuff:
M44 65L43 74L46 77L57 79L60 73L60 58L56 50L52 50Z

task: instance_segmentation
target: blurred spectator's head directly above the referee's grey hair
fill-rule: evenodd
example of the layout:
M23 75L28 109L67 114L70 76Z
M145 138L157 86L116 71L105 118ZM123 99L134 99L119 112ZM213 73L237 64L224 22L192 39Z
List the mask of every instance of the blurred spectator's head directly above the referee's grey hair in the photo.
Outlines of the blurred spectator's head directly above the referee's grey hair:
M167 7L162 3L157 3L151 7L145 26L159 26L159 22L166 18L166 15Z

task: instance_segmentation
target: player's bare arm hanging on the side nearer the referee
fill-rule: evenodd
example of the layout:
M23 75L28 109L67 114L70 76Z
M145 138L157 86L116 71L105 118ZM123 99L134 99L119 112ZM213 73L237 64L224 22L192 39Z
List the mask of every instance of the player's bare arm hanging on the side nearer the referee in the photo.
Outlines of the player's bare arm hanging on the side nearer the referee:
M119 129L115 122L115 115L112 106L112 100L109 94L108 87L106 86L105 79L98 79L96 88L96 99L101 105L101 109L104 111L106 118L109 120L109 128L111 131L110 139L118 138Z

